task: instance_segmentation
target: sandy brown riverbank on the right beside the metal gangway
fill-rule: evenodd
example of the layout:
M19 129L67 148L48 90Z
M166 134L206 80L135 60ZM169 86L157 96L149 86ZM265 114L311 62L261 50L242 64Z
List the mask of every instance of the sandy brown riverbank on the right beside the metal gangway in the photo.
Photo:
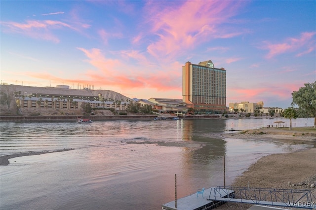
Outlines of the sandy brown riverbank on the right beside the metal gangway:
M316 129L262 128L247 132L224 134L227 138L273 140L283 143L308 143L314 148L262 157L238 176L232 186L276 189L308 189L316 196ZM314 201L314 199L313 199ZM221 210L247 210L252 205L226 203Z

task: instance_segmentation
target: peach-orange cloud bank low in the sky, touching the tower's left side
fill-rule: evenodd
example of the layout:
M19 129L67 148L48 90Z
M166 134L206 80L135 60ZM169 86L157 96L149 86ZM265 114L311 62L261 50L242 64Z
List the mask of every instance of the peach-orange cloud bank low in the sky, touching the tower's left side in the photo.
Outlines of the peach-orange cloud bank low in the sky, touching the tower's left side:
M85 73L85 78L88 81L93 81L98 85L111 85L119 87L122 90L128 89L143 89L152 88L158 91L166 90L182 90L182 81L180 79L180 85L175 79L181 78L179 69L181 65L179 63L173 63L168 66L169 70L155 71L155 67L150 67L151 71L148 71L149 67L144 65L146 58L138 51L121 51L120 56L126 59L136 59L140 62L140 66L129 66L125 62L119 60L112 60L106 58L100 49L87 50L84 48L78 48L88 58L85 62L88 62L95 70L89 70ZM126 60L122 59L122 60ZM171 70L170 70L171 69ZM174 69L174 70L173 70ZM171 76L173 75L173 76ZM74 81L75 82L75 81Z

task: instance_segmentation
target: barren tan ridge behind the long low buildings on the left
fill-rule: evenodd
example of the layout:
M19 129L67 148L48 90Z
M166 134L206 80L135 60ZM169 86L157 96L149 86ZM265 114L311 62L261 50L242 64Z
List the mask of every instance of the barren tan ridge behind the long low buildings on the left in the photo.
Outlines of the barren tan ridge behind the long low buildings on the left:
M4 92L21 92L21 95L28 96L30 94L39 93L39 94L50 94L50 95L69 95L69 96L99 96L108 101L121 101L128 102L131 101L130 98L117 93L112 90L91 90L88 88L84 88L81 90L77 89L67 89L67 88L58 88L58 87L31 87L31 86L23 86L23 85L0 85L0 90Z

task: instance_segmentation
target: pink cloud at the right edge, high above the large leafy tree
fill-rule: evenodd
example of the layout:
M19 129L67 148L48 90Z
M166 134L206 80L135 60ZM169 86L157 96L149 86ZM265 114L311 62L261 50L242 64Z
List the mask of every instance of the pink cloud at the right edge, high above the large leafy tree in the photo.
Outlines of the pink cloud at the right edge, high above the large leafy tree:
M295 52L297 50L306 49L302 53L298 53L297 56L302 56L307 53L311 53L315 50L315 36L316 32L305 32L302 33L299 38L287 38L282 43L271 44L268 41L265 41L264 44L267 45L265 49L269 50L269 53L266 55L266 58L270 59L279 54L287 52Z

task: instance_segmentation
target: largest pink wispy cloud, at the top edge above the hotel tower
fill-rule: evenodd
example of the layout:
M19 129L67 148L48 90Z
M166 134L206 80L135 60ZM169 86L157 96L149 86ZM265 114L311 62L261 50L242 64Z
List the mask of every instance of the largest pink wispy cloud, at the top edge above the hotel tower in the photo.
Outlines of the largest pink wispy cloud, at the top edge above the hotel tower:
M147 50L151 55L176 55L218 37L233 37L240 32L225 32L219 28L237 13L243 1L177 1L173 9L155 6L149 2L146 11L149 23L152 25L150 33L156 35L156 41ZM155 15L153 15L155 14Z

